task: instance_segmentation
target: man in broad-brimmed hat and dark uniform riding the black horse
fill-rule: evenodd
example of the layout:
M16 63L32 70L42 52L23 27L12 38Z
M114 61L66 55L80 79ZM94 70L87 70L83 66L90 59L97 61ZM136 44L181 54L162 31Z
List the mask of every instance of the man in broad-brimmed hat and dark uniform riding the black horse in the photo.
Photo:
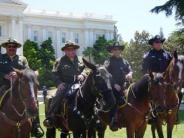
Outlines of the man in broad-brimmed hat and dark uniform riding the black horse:
M44 121L46 127L53 124L54 116L60 114L60 105L63 100L67 99L67 95L71 86L76 81L84 81L84 66L79 62L77 57L77 49L79 46L73 42L67 42L61 48L65 55L58 59L53 67L54 80L57 86L56 96L53 98L47 119ZM63 125L68 128L68 123L63 116Z

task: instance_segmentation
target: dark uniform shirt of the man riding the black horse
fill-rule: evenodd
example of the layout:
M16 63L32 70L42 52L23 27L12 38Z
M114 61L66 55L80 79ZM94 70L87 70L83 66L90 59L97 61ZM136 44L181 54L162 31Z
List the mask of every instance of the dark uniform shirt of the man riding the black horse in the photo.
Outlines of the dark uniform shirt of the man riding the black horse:
M62 82L71 84L83 69L84 66L80 64L77 57L75 57L74 61L71 61L65 55L58 59L53 67L54 81L57 86Z

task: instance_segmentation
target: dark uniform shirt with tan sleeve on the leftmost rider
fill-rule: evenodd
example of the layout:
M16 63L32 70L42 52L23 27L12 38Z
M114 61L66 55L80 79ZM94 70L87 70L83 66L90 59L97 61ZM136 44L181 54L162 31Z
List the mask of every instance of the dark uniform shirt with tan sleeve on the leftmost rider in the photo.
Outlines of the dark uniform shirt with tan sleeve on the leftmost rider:
M4 76L13 71L13 68L18 70L29 68L26 57L15 55L11 59L7 54L0 55L0 83L6 81Z

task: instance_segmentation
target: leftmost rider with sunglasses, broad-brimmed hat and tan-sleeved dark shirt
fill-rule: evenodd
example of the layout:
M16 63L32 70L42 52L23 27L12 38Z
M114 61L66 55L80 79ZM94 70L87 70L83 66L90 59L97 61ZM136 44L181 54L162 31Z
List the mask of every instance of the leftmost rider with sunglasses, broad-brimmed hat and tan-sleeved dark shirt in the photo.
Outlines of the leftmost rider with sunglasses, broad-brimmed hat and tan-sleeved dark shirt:
M29 68L27 59L16 54L17 48L21 47L19 42L10 38L1 46L6 49L6 53L0 55L0 97L10 88L10 81L17 77L17 73L13 69L23 70ZM39 131L39 126L39 115L37 115L32 126L32 134L35 137L42 137L43 135Z

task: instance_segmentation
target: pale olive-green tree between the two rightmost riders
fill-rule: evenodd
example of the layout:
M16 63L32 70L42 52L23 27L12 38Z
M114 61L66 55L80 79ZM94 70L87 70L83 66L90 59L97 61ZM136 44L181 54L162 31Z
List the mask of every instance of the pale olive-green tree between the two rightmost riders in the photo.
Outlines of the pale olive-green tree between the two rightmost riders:
M142 76L142 60L143 55L146 53L150 46L148 45L150 34L146 31L135 32L134 39L130 41L129 46L125 47L123 57L130 63L134 79L138 80Z

